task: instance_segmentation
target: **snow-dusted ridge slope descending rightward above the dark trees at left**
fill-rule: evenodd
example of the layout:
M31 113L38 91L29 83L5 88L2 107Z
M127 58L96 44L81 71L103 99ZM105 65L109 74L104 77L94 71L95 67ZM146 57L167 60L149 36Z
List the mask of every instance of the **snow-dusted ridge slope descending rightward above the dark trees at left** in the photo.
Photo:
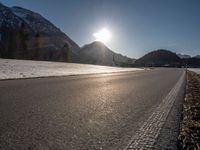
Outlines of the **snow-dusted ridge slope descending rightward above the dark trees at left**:
M47 41L46 46L54 45L56 48L61 48L67 43L73 52L76 53L79 50L79 46L75 42L40 14L21 7L12 7L10 9L13 14L23 19L34 33L40 33L44 36Z

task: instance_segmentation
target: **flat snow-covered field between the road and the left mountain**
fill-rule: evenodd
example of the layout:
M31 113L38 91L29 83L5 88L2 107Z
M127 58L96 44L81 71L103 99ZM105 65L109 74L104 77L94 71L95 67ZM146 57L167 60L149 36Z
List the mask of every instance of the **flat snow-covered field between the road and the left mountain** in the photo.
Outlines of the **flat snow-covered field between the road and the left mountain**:
M66 76L139 70L143 69L47 61L0 59L0 79Z

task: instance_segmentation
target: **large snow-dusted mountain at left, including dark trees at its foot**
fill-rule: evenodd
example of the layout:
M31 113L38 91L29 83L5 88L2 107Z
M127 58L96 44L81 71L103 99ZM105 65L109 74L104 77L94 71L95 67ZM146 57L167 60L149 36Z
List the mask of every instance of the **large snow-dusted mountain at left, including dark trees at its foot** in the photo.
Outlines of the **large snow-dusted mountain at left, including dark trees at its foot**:
M38 13L0 3L0 57L67 61L80 47ZM69 54L68 54L69 55Z

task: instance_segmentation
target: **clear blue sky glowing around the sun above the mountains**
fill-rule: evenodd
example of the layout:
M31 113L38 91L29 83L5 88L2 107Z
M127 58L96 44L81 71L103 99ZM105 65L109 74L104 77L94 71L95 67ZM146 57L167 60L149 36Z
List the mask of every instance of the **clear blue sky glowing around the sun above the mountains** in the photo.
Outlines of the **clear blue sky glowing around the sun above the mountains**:
M106 45L139 58L149 51L200 54L200 0L0 0L21 6L51 21L79 46L106 28Z

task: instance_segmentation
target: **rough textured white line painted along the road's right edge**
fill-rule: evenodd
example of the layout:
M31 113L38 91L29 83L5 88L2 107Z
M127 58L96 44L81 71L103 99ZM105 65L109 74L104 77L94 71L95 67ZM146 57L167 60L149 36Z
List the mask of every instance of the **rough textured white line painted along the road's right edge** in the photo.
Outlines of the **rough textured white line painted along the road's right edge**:
M124 150L153 149L185 78L185 72Z

